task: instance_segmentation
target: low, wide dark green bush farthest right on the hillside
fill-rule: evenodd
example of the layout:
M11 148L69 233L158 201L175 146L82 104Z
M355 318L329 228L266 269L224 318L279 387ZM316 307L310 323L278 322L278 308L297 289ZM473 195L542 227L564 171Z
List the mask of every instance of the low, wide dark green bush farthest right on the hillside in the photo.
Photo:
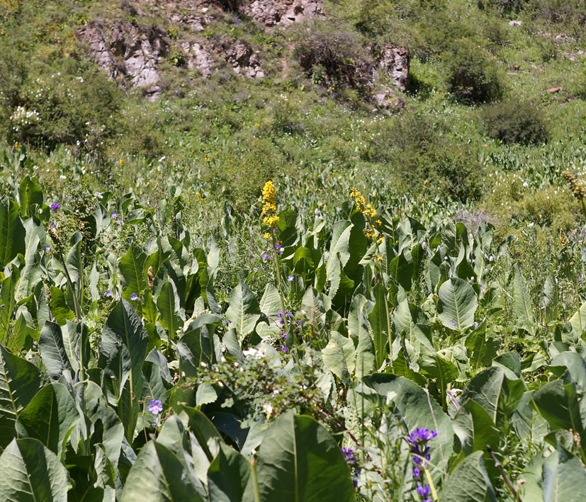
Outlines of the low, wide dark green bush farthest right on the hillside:
M531 103L504 101L485 106L482 119L483 131L504 143L538 144L549 138L541 110Z

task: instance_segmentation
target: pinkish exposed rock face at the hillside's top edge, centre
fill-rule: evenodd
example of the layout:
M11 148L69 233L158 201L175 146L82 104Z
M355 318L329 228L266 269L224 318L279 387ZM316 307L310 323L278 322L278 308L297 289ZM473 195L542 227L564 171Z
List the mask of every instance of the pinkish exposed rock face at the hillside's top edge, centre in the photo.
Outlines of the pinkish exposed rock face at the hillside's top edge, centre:
M254 0L240 11L265 26L288 25L322 13L317 0Z

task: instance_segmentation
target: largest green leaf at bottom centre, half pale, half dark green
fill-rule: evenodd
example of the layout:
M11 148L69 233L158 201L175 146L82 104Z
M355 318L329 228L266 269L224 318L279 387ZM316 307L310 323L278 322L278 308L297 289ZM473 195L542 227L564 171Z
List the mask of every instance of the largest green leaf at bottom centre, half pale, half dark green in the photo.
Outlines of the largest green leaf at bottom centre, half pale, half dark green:
M354 486L332 435L309 416L293 411L264 436L257 461L262 502L344 502Z

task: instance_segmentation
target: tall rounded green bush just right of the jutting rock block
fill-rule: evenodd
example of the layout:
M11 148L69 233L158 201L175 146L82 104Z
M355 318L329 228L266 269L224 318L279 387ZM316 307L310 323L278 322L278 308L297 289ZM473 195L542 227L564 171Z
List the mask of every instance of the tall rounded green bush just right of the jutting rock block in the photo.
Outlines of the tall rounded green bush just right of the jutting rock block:
M449 91L458 101L486 103L502 96L497 65L490 54L473 40L454 42L444 60L448 64Z

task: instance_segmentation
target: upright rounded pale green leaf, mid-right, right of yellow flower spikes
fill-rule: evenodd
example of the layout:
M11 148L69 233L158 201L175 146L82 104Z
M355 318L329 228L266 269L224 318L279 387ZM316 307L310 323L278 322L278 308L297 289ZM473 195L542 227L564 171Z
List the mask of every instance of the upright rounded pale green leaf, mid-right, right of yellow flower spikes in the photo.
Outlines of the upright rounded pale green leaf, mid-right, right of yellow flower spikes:
M476 293L465 280L452 277L439 287L437 311L446 328L462 331L472 326L477 308Z

